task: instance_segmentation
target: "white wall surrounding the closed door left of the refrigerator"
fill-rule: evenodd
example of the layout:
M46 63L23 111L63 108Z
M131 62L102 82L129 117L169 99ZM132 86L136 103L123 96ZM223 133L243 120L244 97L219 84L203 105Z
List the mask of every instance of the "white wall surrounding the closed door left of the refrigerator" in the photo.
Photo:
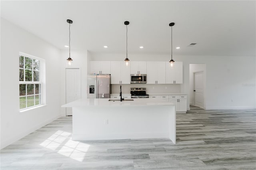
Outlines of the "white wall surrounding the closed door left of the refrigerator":
M61 72L61 80L60 80L60 103L61 105L66 104L66 77L65 77L65 69L66 68L80 68L81 71L81 98L87 98L87 50L72 50L70 49L70 57L73 59L72 65L67 67L67 58L69 57L69 51L61 50L61 59L60 63L60 72ZM66 116L66 108L61 108L61 115Z

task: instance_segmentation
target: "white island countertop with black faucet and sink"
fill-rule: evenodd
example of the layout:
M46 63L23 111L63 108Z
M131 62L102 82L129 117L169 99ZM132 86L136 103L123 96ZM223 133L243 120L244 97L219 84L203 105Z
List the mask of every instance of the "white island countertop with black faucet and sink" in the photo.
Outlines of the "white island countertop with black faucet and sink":
M173 105L170 102L163 102L162 99L133 99L134 101L108 101L109 99L78 99L62 105L61 107L86 107L86 106L148 106L148 105Z

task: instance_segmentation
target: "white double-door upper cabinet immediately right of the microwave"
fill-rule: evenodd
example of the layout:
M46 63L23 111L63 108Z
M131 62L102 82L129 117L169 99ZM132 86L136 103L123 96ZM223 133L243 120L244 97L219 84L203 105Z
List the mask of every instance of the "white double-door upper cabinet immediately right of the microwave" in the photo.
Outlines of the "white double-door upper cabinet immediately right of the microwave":
M147 62L147 84L165 84L165 62Z

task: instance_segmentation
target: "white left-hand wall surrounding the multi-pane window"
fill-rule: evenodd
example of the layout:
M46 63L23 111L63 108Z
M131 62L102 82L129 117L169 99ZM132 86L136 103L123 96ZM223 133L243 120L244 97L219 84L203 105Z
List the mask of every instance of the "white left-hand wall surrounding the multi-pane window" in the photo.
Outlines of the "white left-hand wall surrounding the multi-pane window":
M20 113L19 52L45 59L46 105ZM1 148L60 117L60 51L1 18Z

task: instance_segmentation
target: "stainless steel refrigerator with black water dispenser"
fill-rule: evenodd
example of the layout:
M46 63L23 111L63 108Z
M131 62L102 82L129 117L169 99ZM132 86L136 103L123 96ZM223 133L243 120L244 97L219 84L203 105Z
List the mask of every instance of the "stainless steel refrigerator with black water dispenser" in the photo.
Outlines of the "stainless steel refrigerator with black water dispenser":
M109 74L87 75L87 98L110 98L111 83Z

